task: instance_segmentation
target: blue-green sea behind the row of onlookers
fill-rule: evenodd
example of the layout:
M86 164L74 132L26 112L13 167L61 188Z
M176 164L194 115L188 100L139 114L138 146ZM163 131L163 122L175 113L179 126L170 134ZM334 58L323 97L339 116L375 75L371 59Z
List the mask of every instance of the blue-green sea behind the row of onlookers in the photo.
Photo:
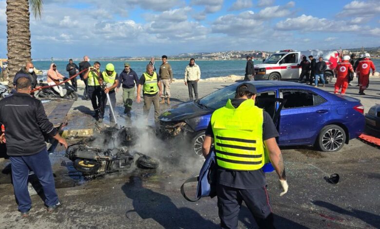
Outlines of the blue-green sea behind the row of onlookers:
M131 64L131 68L137 73L140 77L146 69L149 61L100 61L100 70L104 71L105 67L108 63L113 63L115 66L115 70L118 74L120 74L124 69L124 62L129 62ZM173 70L173 77L176 79L182 79L185 77L185 68L189 64L188 60L173 60L168 61L171 64L171 68ZM255 60L255 64L261 63L261 60ZM373 62L376 66L376 69L380 71L380 59L373 59ZM50 68L51 61L33 61L34 66L43 71L43 75L46 76L47 70ZM66 71L66 65L68 61L55 61L57 65L57 70L63 76L69 76ZM79 66L78 62L75 62L76 65ZM91 64L94 61L90 61ZM161 60L155 62L155 67L158 72L158 69L161 65ZM201 69L201 78L212 78L212 77L220 77L220 76L229 76L229 75L237 75L244 76L246 72L246 60L198 60L195 62L199 65Z

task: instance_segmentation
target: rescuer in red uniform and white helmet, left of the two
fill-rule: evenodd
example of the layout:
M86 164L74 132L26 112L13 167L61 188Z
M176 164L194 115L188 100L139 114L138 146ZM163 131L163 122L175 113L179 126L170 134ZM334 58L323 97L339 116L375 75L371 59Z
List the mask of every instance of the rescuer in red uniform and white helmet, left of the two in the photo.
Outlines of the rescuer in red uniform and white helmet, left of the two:
M349 72L354 73L354 68L352 67L349 60L349 56L344 56L343 62L338 63L337 67L335 68L335 71L337 72L337 82L335 83L334 94L338 94L340 88L342 88L342 95L346 93L346 89L348 87L348 74Z

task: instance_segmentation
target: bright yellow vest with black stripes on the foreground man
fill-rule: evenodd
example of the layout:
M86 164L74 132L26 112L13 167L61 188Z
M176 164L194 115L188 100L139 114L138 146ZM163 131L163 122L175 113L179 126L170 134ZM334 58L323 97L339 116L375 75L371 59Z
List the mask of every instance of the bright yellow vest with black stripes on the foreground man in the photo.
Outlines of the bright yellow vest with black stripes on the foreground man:
M216 161L228 170L254 171L265 161L263 144L263 110L247 99L238 108L231 100L211 116Z

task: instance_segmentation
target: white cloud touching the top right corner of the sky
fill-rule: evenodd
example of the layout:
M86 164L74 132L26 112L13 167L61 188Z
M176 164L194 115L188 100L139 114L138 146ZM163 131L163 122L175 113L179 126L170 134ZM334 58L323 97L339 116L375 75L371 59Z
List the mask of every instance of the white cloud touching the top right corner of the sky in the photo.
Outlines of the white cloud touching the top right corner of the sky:
M351 1L343 6L343 10L337 16L351 17L353 15L371 16L380 13L380 4L378 0L369 1Z

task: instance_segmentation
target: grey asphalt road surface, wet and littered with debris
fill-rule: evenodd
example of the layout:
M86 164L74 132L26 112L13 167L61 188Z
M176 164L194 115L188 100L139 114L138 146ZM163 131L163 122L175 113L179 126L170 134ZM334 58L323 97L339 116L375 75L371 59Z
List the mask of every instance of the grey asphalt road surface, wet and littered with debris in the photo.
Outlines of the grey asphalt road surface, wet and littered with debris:
M199 83L200 96L231 83ZM332 92L333 85L323 89ZM173 84L171 90L172 104L187 100L187 87L182 82ZM358 87L350 86L347 95L360 98L368 111L380 101L380 79L371 80L367 95L358 95L358 91ZM125 125L121 92L117 99L117 119L119 124ZM164 105L163 110L165 108L169 108L168 105ZM133 109L133 124L144 126L138 118L142 104L134 103ZM92 128L90 101L76 101L68 121L68 129ZM147 140L151 144L147 144ZM216 198L190 203L179 192L183 181L199 172L203 161L179 142L175 142L174 149L172 146L169 142L143 138L135 149L160 160L156 172L135 170L91 181L83 180L58 147L51 160L63 206L57 212L48 213L41 197L33 195L30 216L21 219L12 185L1 183L0 228L218 228ZM380 227L379 148L354 139L337 153L317 152L311 147L283 148L282 152L289 183L285 196L279 196L277 175L267 174L277 228ZM340 175L337 185L323 179L332 173ZM190 186L187 191L191 193L194 189L195 186ZM239 228L256 228L244 205Z

